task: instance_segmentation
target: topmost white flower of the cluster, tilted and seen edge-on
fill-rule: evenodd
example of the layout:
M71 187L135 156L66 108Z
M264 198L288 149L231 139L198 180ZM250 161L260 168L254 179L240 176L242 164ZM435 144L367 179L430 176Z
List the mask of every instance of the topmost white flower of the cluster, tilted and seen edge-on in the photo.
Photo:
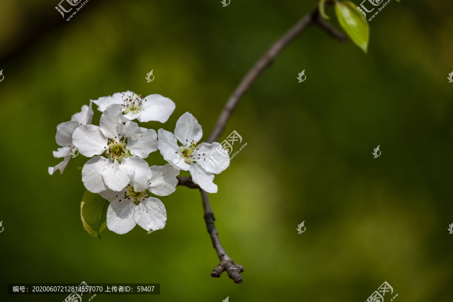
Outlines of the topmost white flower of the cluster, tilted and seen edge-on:
M121 105L125 117L140 122L159 121L165 123L175 110L175 103L159 94L152 94L145 98L131 91L118 92L113 96L102 97L93 101L101 112L111 104Z

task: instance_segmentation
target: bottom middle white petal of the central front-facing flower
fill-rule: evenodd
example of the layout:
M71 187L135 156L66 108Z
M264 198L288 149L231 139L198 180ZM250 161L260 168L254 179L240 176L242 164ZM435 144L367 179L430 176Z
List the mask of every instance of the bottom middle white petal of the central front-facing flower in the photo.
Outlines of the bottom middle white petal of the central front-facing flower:
M108 159L108 164L102 171L102 178L111 190L121 191L129 184L134 169L135 167L130 165L127 159L123 159L121 164L118 161Z

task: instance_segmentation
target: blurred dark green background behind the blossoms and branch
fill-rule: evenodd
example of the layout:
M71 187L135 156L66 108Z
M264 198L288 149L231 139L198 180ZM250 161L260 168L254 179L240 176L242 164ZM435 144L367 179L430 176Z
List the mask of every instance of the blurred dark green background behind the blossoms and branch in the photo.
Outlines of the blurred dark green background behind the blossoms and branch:
M315 2L91 0L69 22L57 5L0 3L2 301L66 296L7 295L7 283L82 281L161 283L160 295L99 302L364 301L384 281L396 301L451 301L450 1L392 1L369 23L366 55L312 26L252 85L221 137L236 130L247 146L210 194L220 240L245 267L240 285L210 277L218 258L197 190L162 198L162 231L90 236L87 159L47 173L60 162L56 126L90 99L132 90L176 103L166 124L142 126L173 131L189 111L206 139L243 75ZM158 153L148 162L164 164Z

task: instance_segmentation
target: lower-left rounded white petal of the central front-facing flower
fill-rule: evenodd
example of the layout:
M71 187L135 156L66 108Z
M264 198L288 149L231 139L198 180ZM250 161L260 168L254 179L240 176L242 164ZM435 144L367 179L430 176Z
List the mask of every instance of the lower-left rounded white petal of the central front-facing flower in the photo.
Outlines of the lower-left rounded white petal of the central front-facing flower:
M93 193L107 190L107 186L102 178L102 171L107 167L109 159L96 156L85 163L82 169L82 181L85 188Z

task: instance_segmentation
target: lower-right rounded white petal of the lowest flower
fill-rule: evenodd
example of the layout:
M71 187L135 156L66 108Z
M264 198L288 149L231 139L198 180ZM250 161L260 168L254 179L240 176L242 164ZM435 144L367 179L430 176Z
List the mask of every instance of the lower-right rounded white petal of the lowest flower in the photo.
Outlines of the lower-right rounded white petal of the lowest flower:
M138 206L135 207L134 220L145 230L148 230L151 222L153 222L150 227L151 230L162 230L167 221L167 211L162 201L149 197L145 200L140 200Z

